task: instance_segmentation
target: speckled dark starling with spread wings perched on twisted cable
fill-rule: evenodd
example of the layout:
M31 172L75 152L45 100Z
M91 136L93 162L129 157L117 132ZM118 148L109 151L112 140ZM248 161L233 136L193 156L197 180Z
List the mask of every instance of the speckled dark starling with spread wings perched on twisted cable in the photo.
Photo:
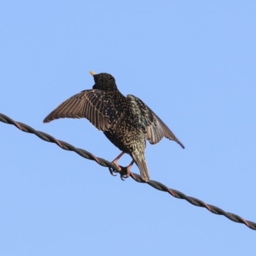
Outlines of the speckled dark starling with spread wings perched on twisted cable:
M184 145L141 99L130 94L125 97L118 90L115 77L108 73L95 74L93 71L90 74L95 82L92 89L83 90L62 102L43 122L49 123L58 118L88 119L121 150L121 154L112 161L119 172L122 170L118 164L120 157L124 154L132 157L123 177L129 177L135 163L142 180L148 182L150 175L145 158L146 140L155 145L165 137L176 141L182 148L185 148Z

